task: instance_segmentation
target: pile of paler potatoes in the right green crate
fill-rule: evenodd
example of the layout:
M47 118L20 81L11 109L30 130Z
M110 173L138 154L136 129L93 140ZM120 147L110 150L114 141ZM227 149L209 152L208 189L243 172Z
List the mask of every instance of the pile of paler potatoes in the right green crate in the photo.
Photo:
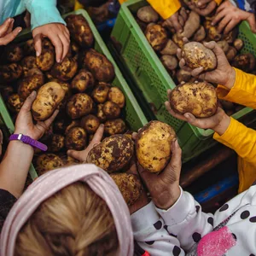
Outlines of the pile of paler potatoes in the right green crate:
M229 34L219 34L216 26L212 26L211 17L201 17L194 11L188 12L188 20L185 22L183 32L177 33L174 30L169 31L163 27L163 22L160 16L150 6L145 6L137 10L137 23L142 28L145 37L149 44L160 57L160 61L166 67L166 71L172 76L176 84L182 82L194 83L190 73L178 67L177 49L183 49L183 57L189 67L207 67L205 70L212 70L216 67L217 62L215 55L207 49L202 49L203 42L216 41L217 44L224 50L227 59L231 66L240 68L244 72L253 73L255 67L254 55L247 53L241 54L241 49L244 46L243 41L237 38L237 27ZM183 38L188 38L194 45L183 43ZM207 52L207 53L206 53ZM203 55L201 55L203 53ZM191 57L192 56L192 57ZM194 63L193 63L194 61ZM224 110L229 115L236 113L244 108L232 102L220 101Z

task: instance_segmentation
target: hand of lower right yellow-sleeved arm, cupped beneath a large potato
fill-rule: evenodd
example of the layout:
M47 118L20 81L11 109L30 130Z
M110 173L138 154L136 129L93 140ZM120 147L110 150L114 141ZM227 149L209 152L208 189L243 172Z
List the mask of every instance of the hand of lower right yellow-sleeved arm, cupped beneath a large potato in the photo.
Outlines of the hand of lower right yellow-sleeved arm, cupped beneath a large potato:
M171 91L172 90L167 90L168 98L170 98ZM186 121L190 125L194 125L201 129L212 129L213 131L216 131L220 136L224 134L230 125L230 117L224 112L222 108L218 108L217 113L209 118L197 119L192 113L176 113L172 109L170 102L165 102L165 105L167 111L171 113L173 117Z

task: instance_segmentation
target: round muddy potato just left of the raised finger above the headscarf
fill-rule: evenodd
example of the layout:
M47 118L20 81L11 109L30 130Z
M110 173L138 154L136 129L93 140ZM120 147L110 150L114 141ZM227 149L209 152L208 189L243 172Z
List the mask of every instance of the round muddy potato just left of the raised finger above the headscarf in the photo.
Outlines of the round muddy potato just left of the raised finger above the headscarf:
M87 134L81 127L73 127L67 132L65 144L67 149L83 150L86 146Z

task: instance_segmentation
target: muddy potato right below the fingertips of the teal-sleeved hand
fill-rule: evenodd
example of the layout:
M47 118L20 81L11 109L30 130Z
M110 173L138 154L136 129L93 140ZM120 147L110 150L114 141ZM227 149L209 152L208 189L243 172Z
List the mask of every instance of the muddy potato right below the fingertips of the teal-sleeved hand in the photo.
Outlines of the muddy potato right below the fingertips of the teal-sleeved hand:
M73 76L77 73L78 62L73 58L66 57L61 63L55 63L55 66L51 70L51 74L55 79L61 81L67 81L73 79Z

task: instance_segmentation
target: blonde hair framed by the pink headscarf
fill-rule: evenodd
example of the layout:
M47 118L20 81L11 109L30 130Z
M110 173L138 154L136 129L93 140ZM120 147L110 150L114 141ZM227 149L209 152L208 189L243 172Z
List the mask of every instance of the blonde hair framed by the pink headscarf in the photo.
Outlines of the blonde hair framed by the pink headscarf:
M15 255L117 255L119 241L105 201L73 183L44 201L17 236Z

